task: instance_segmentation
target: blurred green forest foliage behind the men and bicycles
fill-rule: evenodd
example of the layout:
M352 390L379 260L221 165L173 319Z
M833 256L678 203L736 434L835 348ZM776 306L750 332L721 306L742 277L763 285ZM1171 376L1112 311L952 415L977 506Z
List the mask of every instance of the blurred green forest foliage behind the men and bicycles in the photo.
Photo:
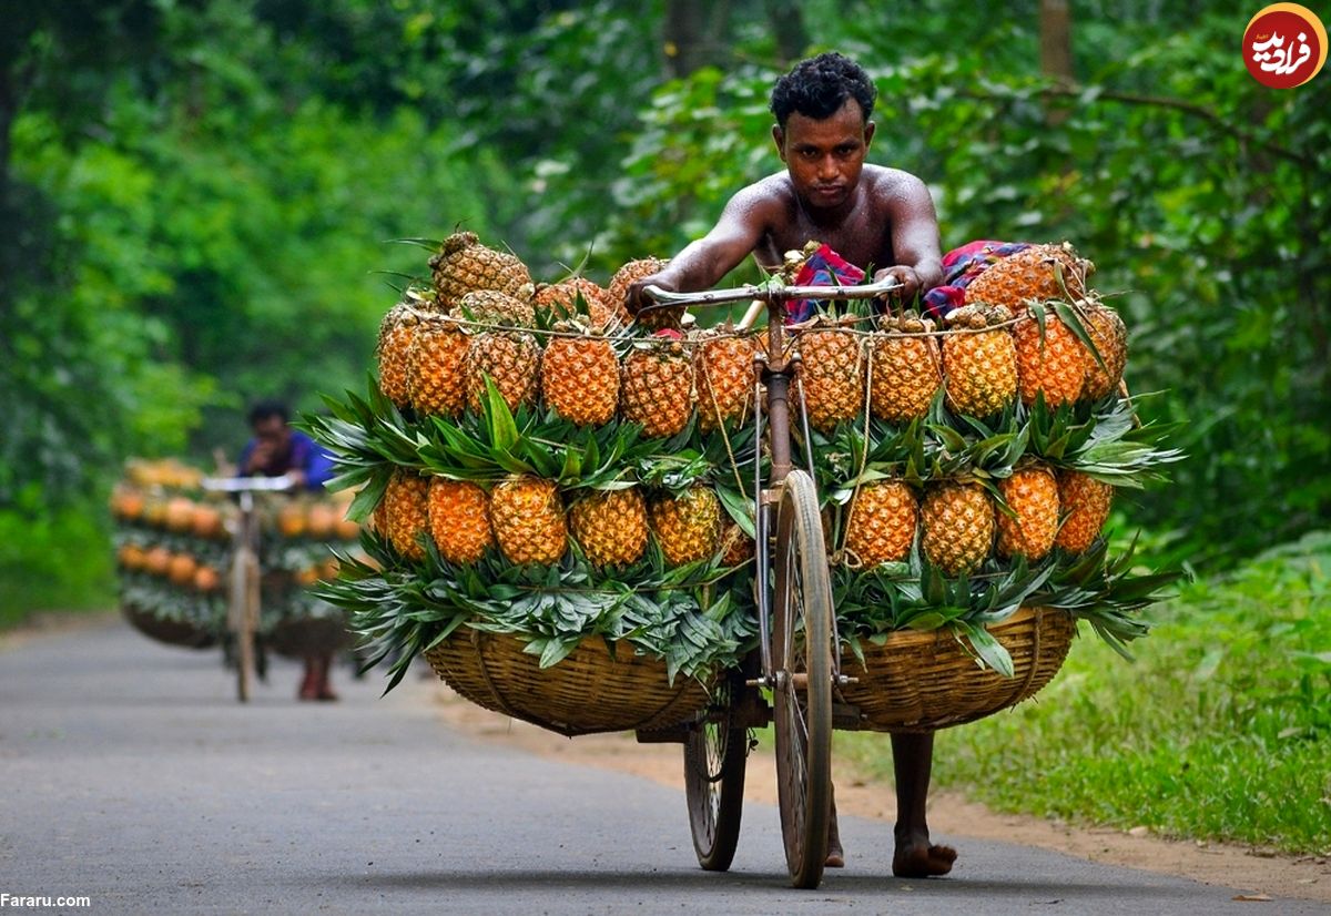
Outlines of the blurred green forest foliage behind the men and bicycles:
M1331 76L1262 88L1229 3L61 0L0 29L0 611L112 602L129 455L359 389L457 226L540 280L671 254L780 168L767 93L840 49L944 246L1071 240L1170 483L1151 557L1225 570L1331 507Z

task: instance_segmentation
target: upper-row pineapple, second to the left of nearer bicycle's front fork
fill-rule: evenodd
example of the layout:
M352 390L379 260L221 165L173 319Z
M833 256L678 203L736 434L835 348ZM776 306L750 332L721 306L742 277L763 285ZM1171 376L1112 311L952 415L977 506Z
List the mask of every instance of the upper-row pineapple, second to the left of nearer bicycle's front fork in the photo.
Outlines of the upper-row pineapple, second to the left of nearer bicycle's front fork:
M619 410L647 438L675 435L693 415L693 366L668 333L636 345L620 366Z

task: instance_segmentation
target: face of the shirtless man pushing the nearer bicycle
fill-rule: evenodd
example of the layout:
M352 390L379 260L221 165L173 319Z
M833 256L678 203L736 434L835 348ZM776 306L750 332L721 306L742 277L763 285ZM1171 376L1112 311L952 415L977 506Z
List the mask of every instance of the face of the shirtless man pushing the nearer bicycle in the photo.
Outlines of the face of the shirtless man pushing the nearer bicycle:
M772 138L804 205L833 210L860 184L873 124L865 124L860 103L847 99L835 114L821 121L793 112L785 120L785 130L780 125L772 128Z

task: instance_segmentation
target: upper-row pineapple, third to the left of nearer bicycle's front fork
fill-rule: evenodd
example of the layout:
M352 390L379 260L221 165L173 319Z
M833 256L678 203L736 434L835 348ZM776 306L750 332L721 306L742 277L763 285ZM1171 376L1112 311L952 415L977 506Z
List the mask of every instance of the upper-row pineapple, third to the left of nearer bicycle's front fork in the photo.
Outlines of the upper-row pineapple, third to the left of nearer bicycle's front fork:
M567 325L556 325L563 332ZM556 334L540 357L546 406L578 426L603 426L619 405L619 359L604 337Z

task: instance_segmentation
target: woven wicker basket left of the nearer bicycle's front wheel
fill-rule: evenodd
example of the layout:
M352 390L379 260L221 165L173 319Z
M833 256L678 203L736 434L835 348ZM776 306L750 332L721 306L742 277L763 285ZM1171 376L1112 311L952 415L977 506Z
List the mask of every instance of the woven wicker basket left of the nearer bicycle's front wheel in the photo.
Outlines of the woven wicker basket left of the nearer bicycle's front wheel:
M518 636L461 627L425 656L473 703L570 738L667 728L707 706L701 683L676 675L671 684L664 662L636 655L628 643L611 655L603 639L584 639L548 668L522 651L524 644Z

